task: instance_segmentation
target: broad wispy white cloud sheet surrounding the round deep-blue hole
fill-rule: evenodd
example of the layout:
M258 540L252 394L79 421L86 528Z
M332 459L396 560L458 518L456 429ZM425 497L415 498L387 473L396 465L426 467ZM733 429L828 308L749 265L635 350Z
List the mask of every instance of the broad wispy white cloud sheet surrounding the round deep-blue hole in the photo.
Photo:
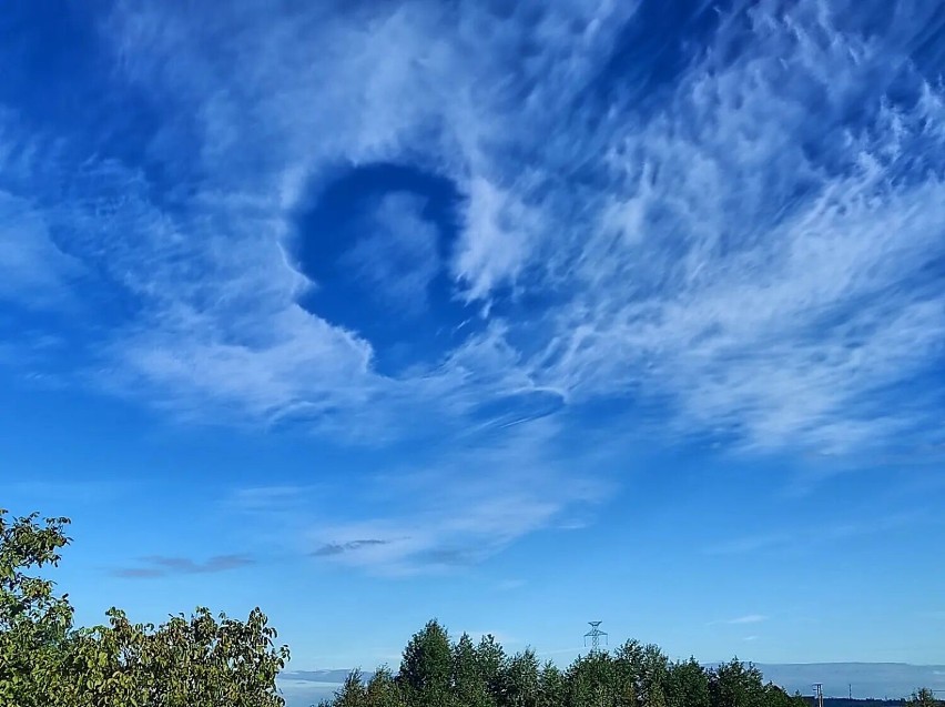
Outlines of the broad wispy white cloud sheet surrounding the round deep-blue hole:
M212 20L233 38L217 38L225 44L214 55L252 65L236 72L250 77L238 93L209 90L226 82L220 60L173 10L149 10L144 22L124 7L113 18L129 80L155 81L197 108L190 129L211 169L191 206L213 214L237 253L255 254L227 263L217 253L199 270L211 290L225 282L234 305L253 292L252 319L231 306L194 311L179 292L140 343L120 342L126 370L170 383L179 397L196 395L195 406L302 410L316 425L328 411L445 403L451 365L423 382L378 376L372 342L294 304L304 277L281 259L294 238L286 210L306 182L331 180L338 159L394 161L457 184L466 214L451 265L458 291L488 304L517 368L571 401L642 395L674 418L677 434L707 431L753 448L844 451L917 434L927 422L927 404L895 393L931 365L945 334L934 276L943 174L929 161L943 148L943 97L910 59L921 17L896 16L878 36L841 27L839 8L825 3L736 10L640 110L632 88L601 73L632 8L620 17L604 6L559 9L534 23L527 11L497 18L406 3L362 34L365 18L353 13L271 18L251 38L242 23L255 9ZM312 46L328 48L319 62L305 60L303 19L324 40ZM496 51L469 61L474 32L491 37ZM534 65L515 59L525 38ZM740 50L725 53L734 42ZM162 69L170 52L192 70ZM490 82L499 69L506 78ZM595 93L601 82L608 91ZM908 99L893 98L893 87ZM341 120L355 95L363 108ZM312 117L301 110L311 101L332 109ZM855 115L854 105L863 107ZM263 124L264 154L235 138ZM247 150L252 175L230 166ZM573 165L563 179L562 164ZM238 199L216 195L237 176ZM237 225L248 213L252 234ZM193 218L180 228L203 231ZM215 240L206 233L192 248L206 257ZM240 267L247 261L252 270ZM258 291L264 275L270 284ZM515 300L495 314L509 287L563 296L522 321ZM275 322L262 339L252 323L261 316ZM449 361L475 346L470 339ZM494 362L475 364L487 373ZM289 373L299 370L311 374ZM343 388L328 385L337 380ZM458 397L449 402L461 414Z

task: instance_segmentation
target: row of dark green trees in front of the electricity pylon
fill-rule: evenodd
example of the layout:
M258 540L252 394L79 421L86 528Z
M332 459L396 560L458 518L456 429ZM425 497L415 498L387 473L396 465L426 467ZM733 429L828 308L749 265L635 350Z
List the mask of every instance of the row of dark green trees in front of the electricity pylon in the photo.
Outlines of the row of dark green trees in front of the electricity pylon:
M807 707L734 659L705 668L671 661L654 645L628 640L592 650L567 668L543 665L532 649L508 655L492 636L455 643L429 622L404 649L395 675L348 675L319 707Z

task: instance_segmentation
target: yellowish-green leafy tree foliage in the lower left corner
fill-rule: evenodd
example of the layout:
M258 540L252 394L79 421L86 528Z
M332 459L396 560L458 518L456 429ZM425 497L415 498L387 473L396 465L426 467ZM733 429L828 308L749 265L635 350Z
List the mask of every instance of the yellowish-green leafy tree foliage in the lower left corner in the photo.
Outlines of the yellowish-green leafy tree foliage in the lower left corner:
M59 562L65 518L0 511L0 707L282 707L288 658L254 609L246 622L197 608L154 627L119 609L73 629L68 597L35 570Z

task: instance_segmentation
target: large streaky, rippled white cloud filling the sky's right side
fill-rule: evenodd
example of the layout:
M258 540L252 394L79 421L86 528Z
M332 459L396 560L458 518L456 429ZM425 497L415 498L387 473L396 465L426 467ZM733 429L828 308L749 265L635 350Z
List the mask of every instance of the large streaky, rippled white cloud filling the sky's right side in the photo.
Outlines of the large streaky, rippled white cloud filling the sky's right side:
M876 401L945 337L941 287L912 281L941 256L943 175L908 176L945 147L941 95L891 107L898 77L872 71L888 48L809 9L759 6L731 63L710 53L664 111L611 135L601 215L560 249L579 289L539 380L669 396L678 431L752 447L847 451L927 424ZM875 115L849 132L864 94Z

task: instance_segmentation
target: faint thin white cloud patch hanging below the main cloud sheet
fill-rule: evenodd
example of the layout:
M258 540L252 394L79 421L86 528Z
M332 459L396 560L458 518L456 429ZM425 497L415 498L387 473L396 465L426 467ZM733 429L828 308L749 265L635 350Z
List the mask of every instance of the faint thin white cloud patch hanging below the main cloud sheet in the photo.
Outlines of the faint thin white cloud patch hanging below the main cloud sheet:
M558 434L542 420L489 446L441 450L421 466L388 468L356 486L242 489L231 506L275 519L274 534L313 562L384 575L457 570L612 493L599 475L575 474Z

